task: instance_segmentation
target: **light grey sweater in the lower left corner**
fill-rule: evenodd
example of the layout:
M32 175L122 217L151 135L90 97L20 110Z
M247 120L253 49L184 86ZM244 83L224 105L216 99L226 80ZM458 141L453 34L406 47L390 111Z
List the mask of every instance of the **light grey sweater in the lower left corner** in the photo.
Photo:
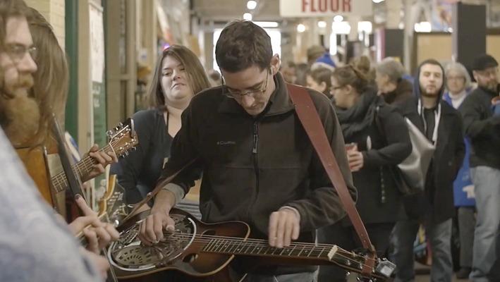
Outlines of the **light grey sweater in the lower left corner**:
M0 281L102 281L0 128Z

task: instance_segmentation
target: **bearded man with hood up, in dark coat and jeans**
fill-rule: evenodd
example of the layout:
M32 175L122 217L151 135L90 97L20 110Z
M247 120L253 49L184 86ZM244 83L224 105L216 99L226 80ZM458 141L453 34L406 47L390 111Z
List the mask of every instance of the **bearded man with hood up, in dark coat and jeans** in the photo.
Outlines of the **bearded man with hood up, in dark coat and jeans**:
M425 191L405 199L408 220L394 228L396 281L412 281L413 241L419 223L425 226L432 249L431 281L451 281L451 221L453 180L461 168L465 154L462 118L456 109L441 99L444 92L444 70L439 62L429 59L420 64L413 91L415 97L401 106L403 116L419 128L436 146L425 179Z

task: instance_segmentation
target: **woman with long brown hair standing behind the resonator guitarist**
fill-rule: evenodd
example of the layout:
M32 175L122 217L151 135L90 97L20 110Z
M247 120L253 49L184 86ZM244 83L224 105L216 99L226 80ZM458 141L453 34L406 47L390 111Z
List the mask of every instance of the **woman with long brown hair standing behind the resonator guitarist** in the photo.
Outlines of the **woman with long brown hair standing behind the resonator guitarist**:
M152 79L150 109L133 115L138 149L111 167L127 190L128 204L139 202L154 188L181 128L182 112L195 94L208 87L205 70L193 51L180 45L164 49Z

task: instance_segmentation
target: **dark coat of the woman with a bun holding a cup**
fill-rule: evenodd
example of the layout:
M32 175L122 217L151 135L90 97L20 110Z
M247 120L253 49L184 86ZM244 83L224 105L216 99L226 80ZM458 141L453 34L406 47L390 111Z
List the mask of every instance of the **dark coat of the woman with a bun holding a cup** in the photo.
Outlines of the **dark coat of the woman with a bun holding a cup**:
M362 221L391 223L404 219L401 193L390 169L411 152L403 117L372 89L362 94L350 109L337 109L337 114L344 141L357 143L363 155L363 167L353 172L354 185L358 189L356 208Z

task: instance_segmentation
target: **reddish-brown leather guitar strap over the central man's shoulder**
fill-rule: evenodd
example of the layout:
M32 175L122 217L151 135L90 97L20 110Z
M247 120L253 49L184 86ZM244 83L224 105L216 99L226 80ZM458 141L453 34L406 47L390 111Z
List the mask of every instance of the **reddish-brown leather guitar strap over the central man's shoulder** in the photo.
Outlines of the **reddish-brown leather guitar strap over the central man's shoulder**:
M370 238L368 238L368 233L361 221L360 214L358 214L353 199L347 190L346 181L343 179L339 164L337 164L334 153L331 151L330 142L328 141L327 134L324 132L324 127L321 119L319 119L316 107L305 88L291 84L287 84L286 86L288 87L288 94L290 94L291 100L295 104L298 119L302 123L307 136L309 136L312 146L315 147L331 183L339 194L343 207L346 209L356 233L358 233L362 246L370 252L368 254L370 259L367 259L367 262L365 262L362 272L371 273L377 252L374 250Z

